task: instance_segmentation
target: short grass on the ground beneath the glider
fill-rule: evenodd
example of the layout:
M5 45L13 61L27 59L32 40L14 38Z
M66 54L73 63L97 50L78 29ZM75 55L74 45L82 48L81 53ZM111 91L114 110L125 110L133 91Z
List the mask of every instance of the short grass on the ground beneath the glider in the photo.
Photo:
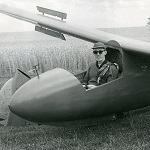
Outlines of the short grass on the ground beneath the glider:
M149 109L149 108L148 108ZM93 127L0 127L6 150L149 150L149 110L132 111Z

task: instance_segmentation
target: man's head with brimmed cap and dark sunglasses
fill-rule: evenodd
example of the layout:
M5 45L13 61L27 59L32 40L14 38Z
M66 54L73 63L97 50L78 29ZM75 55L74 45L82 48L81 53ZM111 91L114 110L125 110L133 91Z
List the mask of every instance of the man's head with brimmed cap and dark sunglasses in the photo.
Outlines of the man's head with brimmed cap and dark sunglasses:
M106 46L101 42L97 42L92 49L96 61L103 62L105 60L105 55L107 54Z

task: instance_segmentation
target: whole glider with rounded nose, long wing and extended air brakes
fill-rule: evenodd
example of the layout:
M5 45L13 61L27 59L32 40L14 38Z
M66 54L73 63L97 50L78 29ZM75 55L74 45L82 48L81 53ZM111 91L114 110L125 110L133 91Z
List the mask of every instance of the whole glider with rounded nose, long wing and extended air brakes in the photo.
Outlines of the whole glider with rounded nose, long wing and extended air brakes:
M119 65L120 77L86 91L82 75L55 68L24 83L13 95L10 110L39 124L57 125L118 114L150 105L150 44L71 25L67 15L37 7L42 14L0 5L0 12L35 24L35 30L65 40L64 34L107 45L107 59ZM47 15L61 19L55 19Z

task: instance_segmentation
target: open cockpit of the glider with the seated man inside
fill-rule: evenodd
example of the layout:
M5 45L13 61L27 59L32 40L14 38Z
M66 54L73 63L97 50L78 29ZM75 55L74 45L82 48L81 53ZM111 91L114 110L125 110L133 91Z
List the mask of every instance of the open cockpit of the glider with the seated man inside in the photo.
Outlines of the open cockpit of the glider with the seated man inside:
M92 89L123 76L122 49L118 42L109 41L106 45L97 42L92 49L95 63L86 72L76 75L83 87ZM102 59L103 63L99 65Z

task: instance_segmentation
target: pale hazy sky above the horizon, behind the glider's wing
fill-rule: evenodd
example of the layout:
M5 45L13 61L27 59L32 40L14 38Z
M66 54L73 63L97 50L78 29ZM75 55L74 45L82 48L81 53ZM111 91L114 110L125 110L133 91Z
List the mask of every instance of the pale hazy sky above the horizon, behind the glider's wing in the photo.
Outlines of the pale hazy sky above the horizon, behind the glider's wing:
M67 13L66 22L88 28L146 26L150 0L0 0L38 14L36 6ZM0 32L34 31L34 25L0 13Z

